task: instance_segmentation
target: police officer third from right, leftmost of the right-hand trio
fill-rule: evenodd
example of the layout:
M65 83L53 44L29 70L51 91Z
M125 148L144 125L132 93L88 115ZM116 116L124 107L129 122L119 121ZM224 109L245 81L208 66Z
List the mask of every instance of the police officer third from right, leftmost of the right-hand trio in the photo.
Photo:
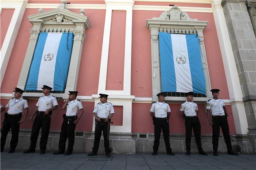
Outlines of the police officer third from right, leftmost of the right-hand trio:
M170 141L169 141L169 117L171 114L170 106L165 103L165 92L161 92L157 94L158 102L154 103L150 109L150 115L153 118L154 123L154 146L152 155L157 155L158 147L159 147L159 140L161 129L164 135L164 141L166 144L166 151L168 155L175 155L170 148Z

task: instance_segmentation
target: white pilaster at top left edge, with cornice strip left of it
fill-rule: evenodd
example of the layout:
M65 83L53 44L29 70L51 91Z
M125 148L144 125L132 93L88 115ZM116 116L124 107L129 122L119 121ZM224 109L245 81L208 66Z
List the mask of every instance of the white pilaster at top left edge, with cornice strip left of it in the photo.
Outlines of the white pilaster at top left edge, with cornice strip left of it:
M26 0L27 1L27 0ZM16 36L19 32L19 26L21 24L23 14L25 12L25 6L24 4L26 1L23 0L16 0L16 1L7 1L2 0L0 4L0 11L4 8L12 8L15 9L14 13L11 18L11 22L9 24L6 36L4 38L4 43L2 45L1 51L0 51L0 86L2 85L4 74L7 69L7 65L11 56L11 51L14 46Z

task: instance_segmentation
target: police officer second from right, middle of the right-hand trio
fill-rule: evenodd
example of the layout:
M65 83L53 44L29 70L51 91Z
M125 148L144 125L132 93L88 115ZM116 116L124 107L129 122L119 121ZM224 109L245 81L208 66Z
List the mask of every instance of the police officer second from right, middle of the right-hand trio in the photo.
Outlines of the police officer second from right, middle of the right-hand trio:
M181 104L180 116L185 119L185 127L186 127L186 155L190 155L190 144L191 144L191 136L192 136L192 128L194 130L196 145L198 148L198 152L201 155L207 155L203 151L202 143L201 143L201 124L199 121L198 115L198 107L197 104L194 103L193 100L193 92L187 93L187 101Z

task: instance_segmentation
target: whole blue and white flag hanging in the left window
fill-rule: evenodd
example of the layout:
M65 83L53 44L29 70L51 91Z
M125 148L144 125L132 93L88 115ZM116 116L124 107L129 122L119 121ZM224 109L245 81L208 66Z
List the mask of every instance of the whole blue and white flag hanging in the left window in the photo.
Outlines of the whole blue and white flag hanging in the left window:
M64 91L72 46L72 33L40 33L26 90L42 90L45 84L54 91Z

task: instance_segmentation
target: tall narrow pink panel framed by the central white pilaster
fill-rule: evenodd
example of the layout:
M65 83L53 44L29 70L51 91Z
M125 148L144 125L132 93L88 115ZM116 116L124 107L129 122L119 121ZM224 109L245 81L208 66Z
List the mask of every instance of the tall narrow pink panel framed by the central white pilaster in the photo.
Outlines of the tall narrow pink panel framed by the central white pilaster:
M106 90L124 89L126 11L112 11Z

